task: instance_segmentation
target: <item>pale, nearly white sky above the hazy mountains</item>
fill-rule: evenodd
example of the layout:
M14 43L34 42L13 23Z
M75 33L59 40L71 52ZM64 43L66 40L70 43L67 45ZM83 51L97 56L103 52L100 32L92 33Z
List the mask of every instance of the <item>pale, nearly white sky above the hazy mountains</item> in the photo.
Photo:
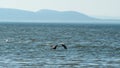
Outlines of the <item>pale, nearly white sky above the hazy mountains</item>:
M0 8L77 11L103 19L120 19L120 0L0 0Z

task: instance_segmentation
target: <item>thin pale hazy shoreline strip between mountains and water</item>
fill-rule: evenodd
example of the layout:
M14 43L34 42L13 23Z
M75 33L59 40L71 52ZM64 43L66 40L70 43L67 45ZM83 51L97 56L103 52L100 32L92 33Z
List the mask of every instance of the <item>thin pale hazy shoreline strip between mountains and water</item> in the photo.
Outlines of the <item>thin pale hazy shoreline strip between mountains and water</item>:
M78 22L56 22L56 21L0 21L0 23L43 23L43 24L120 24L120 20L103 20L103 21L78 21Z

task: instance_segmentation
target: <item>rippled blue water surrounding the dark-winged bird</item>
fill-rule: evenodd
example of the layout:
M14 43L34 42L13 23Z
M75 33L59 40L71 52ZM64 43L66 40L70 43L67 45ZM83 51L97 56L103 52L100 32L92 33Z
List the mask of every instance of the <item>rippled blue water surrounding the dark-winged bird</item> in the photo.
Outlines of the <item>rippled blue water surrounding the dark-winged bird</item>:
M0 68L119 68L119 37L118 24L0 24Z

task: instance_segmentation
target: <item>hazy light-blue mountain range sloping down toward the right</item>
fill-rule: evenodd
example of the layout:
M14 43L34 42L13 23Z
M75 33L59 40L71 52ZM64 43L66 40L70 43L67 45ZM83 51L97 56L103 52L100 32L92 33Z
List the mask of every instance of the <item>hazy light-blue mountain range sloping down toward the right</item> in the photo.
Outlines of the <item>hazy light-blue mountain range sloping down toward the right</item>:
M98 19L75 11L40 10L31 12L0 8L0 21L79 22L96 20Z

